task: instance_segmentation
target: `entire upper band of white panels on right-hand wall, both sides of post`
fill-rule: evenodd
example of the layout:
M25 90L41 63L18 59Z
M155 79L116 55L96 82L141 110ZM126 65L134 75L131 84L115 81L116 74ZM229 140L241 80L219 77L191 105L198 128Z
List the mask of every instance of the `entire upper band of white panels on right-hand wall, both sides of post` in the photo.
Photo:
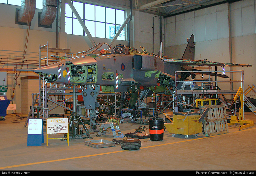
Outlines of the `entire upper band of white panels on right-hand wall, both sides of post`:
M256 34L256 0L243 0L230 4L231 37ZM195 34L195 41L207 41L229 37L228 4L220 4L205 9L176 15L166 19L166 23L175 23L176 42L167 46L186 43L187 36ZM185 19L185 31L183 30ZM166 31L168 33L168 29ZM180 33L180 34L179 34ZM184 34L183 34L184 33ZM168 36L170 36L168 34ZM183 36L185 36L183 38ZM185 43L184 43L184 42Z

